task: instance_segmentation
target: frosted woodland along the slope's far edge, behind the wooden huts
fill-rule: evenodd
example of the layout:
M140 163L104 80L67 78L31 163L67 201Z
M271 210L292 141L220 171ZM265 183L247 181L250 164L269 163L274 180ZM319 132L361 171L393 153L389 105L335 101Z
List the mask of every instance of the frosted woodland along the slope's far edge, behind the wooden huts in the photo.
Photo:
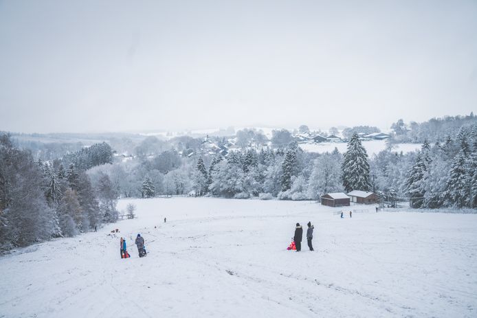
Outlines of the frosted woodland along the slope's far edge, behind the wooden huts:
M348 151L303 152L243 148L221 155L179 155L170 148L152 156L96 166L91 179L108 174L123 197L189 194L225 198L318 199L327 192L370 190L383 201L413 207L475 207L477 125L462 126L445 141L424 141L418 152L387 150L368 157L354 135Z

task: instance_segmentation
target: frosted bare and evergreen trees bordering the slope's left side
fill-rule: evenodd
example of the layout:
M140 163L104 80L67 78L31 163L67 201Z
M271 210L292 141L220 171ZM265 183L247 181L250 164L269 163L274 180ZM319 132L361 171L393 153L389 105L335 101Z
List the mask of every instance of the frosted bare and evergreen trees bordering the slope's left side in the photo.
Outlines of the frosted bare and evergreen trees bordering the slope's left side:
M117 220L118 194L108 175L93 186L85 172L111 163L111 155L103 143L72 152L66 161L35 161L9 135L0 135L0 249L74 236Z

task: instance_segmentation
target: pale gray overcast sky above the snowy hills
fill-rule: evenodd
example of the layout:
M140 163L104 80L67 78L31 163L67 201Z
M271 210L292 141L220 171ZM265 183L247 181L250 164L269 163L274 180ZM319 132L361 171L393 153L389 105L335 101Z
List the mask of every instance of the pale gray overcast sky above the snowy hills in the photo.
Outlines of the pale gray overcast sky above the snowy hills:
M0 130L388 128L476 106L475 0L0 0Z

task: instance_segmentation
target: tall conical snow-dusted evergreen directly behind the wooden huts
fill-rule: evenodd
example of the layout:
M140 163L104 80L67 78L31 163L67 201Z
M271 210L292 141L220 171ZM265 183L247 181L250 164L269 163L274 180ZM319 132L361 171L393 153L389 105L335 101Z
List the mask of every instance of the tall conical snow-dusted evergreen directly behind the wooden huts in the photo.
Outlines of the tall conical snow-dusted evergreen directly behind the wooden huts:
M344 190L370 190L369 164L366 149L361 144L357 133L348 142L348 150L343 155L342 182Z

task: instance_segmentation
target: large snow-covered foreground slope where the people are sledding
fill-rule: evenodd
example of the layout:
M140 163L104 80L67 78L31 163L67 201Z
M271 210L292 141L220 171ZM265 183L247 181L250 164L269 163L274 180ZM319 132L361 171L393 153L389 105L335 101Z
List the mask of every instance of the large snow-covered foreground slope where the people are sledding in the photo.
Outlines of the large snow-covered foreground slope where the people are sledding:
M1 257L0 317L477 316L477 214L341 219L309 201L217 198L119 208L129 202L134 220ZM315 251L287 251L309 220Z

